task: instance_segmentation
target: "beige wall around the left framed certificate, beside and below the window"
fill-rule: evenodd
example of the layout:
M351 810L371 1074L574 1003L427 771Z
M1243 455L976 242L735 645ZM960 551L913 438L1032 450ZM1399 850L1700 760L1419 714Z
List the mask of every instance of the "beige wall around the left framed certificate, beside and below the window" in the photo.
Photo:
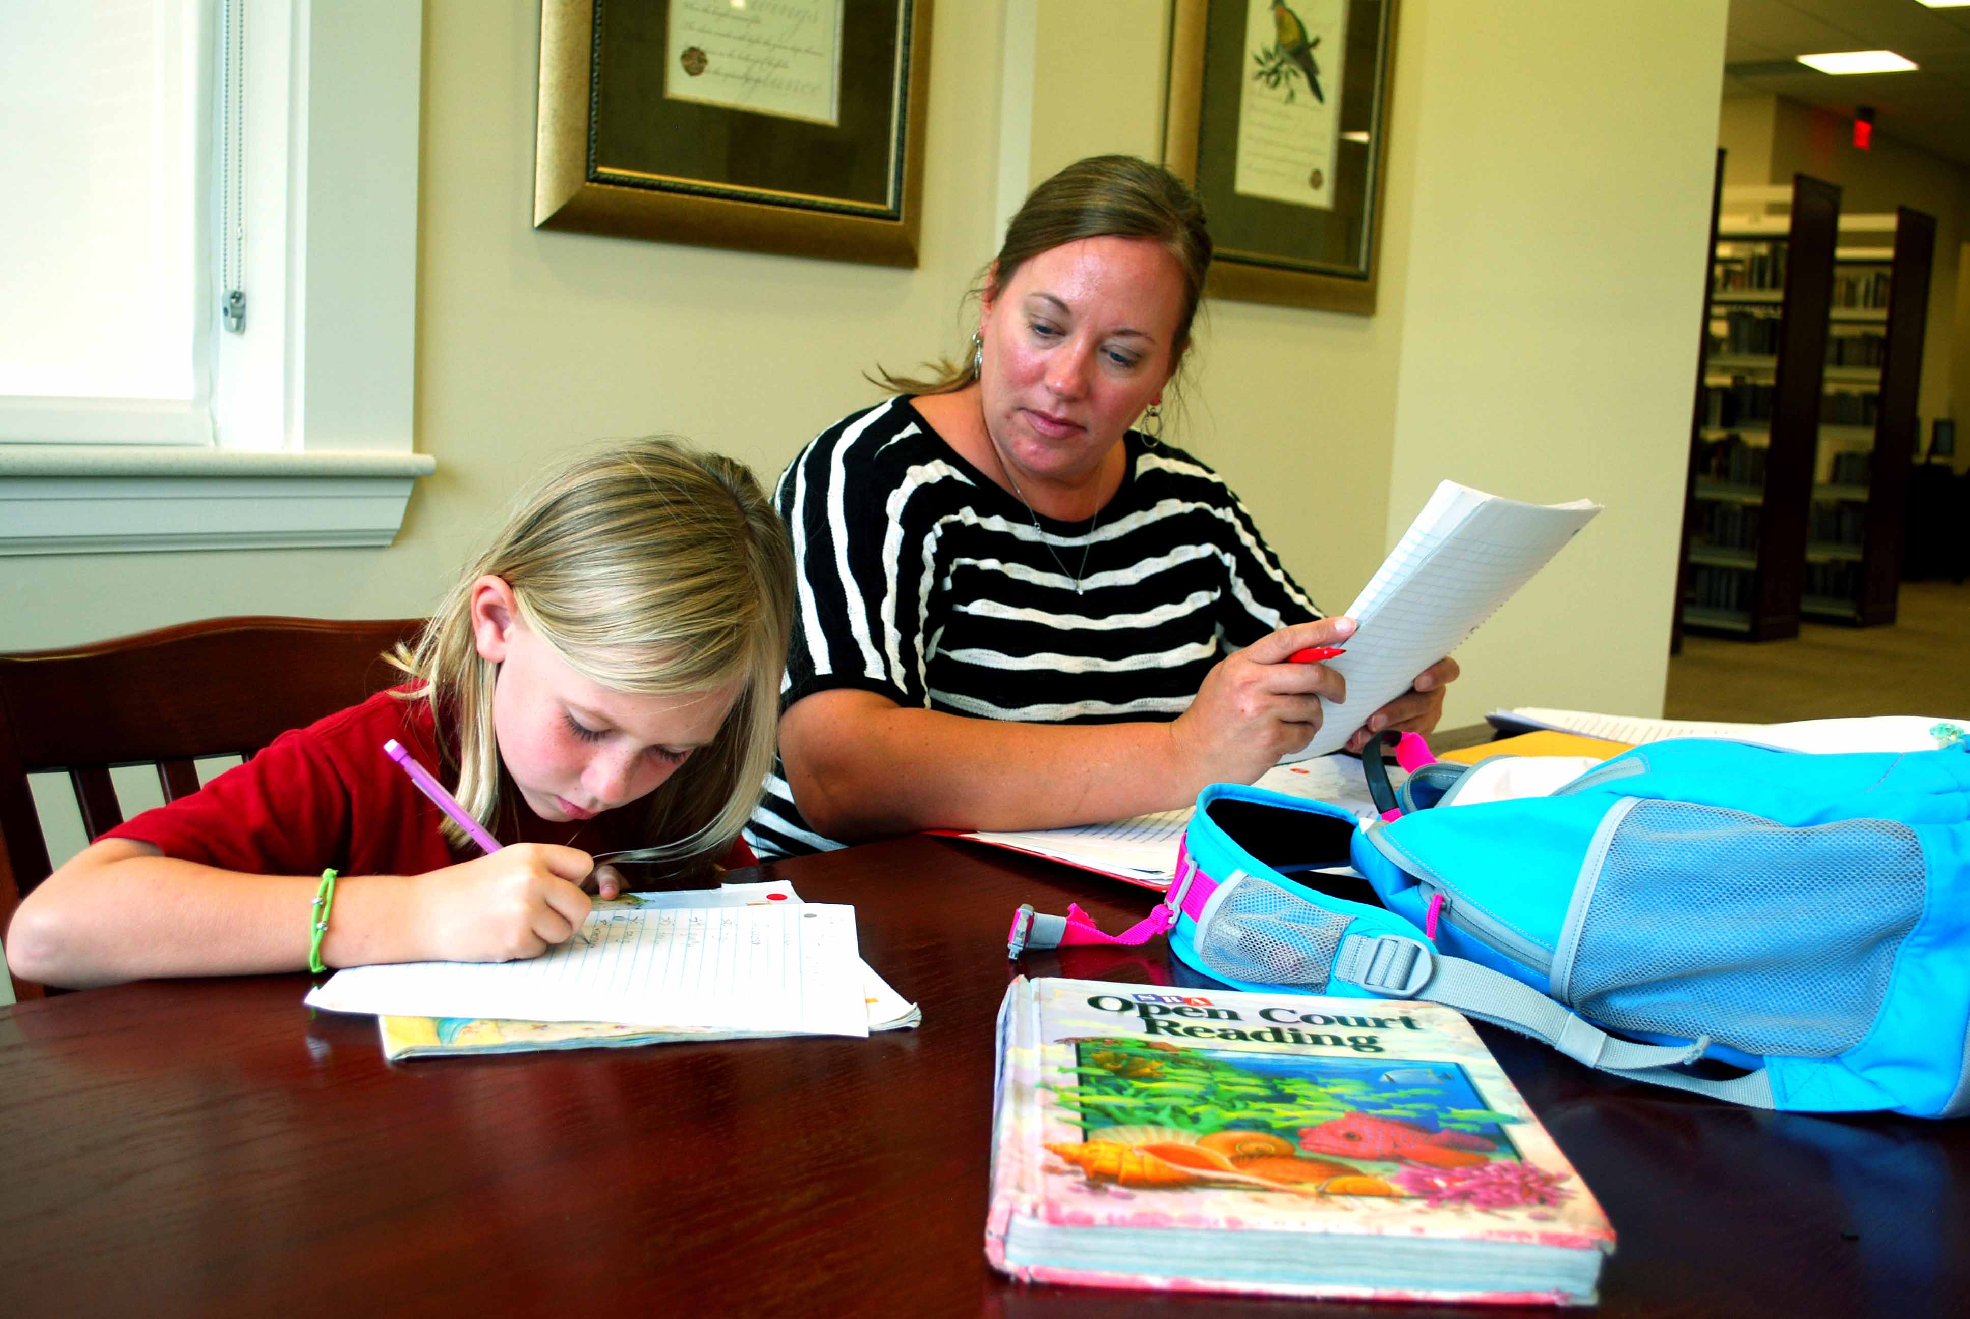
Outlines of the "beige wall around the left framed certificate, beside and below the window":
M386 550L12 558L0 649L223 613L420 613L502 501L603 436L680 432L770 481L875 392L877 361L957 345L991 248L999 4L938 6L916 270L536 231L536 6L427 0L418 483Z

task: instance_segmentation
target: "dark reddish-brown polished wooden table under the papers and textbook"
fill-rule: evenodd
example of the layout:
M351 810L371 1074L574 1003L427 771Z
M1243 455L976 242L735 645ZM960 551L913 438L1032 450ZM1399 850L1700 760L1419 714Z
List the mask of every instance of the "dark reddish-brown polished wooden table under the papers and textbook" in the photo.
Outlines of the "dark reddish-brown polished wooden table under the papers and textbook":
M764 873L855 903L922 1029L388 1067L303 976L0 1009L0 1315L1324 1313L985 1266L1007 921L1078 901L1119 929L1152 895L936 838ZM1170 966L1156 942L1024 970ZM1970 1126L1755 1114L1485 1039L1621 1234L1604 1313L1970 1305Z

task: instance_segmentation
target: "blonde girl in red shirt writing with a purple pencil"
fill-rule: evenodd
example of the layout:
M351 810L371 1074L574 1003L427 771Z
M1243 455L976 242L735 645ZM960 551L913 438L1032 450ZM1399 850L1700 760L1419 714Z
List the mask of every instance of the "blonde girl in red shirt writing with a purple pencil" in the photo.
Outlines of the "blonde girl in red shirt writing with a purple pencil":
M538 956L615 897L595 854L717 854L772 767L792 617L753 475L674 440L528 495L431 617L414 682L284 733L122 824L20 905L32 980ZM502 844L481 856L384 753L400 741ZM339 871L315 948L323 868Z

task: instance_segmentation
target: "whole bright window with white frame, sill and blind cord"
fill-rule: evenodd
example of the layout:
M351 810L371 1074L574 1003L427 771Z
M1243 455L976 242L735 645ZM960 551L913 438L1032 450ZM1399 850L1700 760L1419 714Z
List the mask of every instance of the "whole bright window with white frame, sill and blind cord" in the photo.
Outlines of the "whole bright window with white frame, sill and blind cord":
M0 554L390 542L433 467L412 451L422 22L0 4L0 170L26 201L0 215Z

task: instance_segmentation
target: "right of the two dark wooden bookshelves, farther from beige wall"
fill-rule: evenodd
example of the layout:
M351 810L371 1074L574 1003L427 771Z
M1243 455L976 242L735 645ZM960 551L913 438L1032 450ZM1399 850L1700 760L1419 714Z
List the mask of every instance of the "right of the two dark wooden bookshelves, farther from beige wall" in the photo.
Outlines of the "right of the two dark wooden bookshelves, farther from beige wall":
M1846 215L1840 239L1799 607L1875 627L1895 621L1901 586L1937 221L1909 207Z

